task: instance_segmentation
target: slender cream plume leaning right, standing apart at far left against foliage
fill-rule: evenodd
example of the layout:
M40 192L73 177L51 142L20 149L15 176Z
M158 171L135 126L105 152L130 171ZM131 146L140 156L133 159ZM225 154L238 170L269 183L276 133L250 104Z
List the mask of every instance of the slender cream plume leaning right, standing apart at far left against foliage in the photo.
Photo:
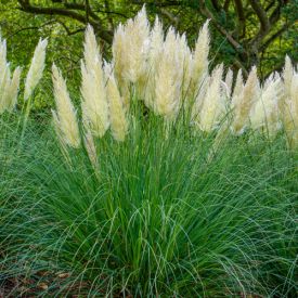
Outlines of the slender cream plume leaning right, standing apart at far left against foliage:
M38 82L42 77L47 46L48 46L48 39L40 38L35 49L30 68L25 80L25 91L24 91L25 101L27 101L29 96L33 94L36 86L38 85Z

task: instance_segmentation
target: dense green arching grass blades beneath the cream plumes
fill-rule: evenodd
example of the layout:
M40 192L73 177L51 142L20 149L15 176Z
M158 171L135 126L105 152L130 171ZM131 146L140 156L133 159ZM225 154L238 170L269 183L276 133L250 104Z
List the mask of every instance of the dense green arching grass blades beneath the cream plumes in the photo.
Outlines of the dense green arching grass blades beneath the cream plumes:
M46 296L294 297L297 155L283 134L215 151L183 119L135 108L132 122L125 142L95 141L96 164L35 121L18 151L14 133L1 141L2 283L29 280L22 289Z

